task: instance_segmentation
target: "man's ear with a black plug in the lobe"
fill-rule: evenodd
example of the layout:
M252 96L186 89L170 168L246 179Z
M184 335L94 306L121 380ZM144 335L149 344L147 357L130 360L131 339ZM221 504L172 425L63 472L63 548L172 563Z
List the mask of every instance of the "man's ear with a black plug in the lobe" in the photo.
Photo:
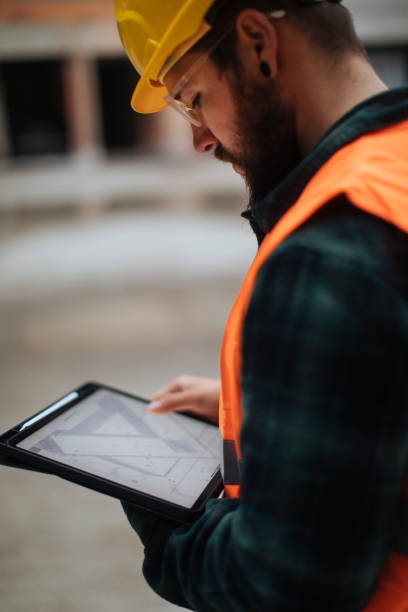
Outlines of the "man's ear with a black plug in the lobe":
M274 78L278 74L278 36L274 22L260 11L245 9L239 13L235 27L236 51L244 70L265 80L260 65L266 62L270 77Z

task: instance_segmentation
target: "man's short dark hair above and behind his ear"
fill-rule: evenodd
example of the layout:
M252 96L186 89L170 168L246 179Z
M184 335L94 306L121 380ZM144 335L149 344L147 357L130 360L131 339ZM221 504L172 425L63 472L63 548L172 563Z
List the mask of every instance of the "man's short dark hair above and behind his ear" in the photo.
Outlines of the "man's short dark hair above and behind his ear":
M294 26L299 28L309 42L332 60L346 53L365 55L352 16L346 7L333 2L306 4L299 0L216 0L206 15L211 30L198 41L192 51L208 51L232 28L237 15L246 8L263 13L285 10ZM236 65L234 30L215 49L212 59L221 70Z

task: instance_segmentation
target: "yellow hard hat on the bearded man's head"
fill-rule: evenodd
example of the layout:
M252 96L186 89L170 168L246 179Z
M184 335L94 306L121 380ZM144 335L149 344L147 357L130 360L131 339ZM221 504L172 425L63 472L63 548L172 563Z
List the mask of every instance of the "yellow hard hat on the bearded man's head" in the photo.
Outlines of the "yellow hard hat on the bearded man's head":
M140 74L132 108L154 113L167 106L163 77L210 29L204 17L215 0L115 0L119 34Z

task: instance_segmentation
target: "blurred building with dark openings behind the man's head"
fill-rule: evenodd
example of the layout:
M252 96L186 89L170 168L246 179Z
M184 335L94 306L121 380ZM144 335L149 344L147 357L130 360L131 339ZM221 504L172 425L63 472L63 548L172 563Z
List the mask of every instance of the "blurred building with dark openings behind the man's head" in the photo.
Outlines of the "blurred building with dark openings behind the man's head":
M381 76L390 86L407 82L406 0L345 3ZM171 111L135 114L129 99L136 79L116 31L113 0L2 0L1 210L169 195L165 185L182 176L174 159L167 172L163 158L175 157L185 168L189 129ZM240 189L232 173L188 159L190 205Z

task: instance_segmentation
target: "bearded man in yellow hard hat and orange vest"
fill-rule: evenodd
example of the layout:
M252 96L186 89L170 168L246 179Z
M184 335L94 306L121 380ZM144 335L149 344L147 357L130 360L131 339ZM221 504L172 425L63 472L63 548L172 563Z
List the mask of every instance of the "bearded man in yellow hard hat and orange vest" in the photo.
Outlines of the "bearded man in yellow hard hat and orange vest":
M133 107L173 105L233 164L260 244L221 353L227 497L191 527L125 505L145 577L197 610L408 609L408 89L387 91L339 2L116 9ZM216 421L218 396L181 377L151 410Z

